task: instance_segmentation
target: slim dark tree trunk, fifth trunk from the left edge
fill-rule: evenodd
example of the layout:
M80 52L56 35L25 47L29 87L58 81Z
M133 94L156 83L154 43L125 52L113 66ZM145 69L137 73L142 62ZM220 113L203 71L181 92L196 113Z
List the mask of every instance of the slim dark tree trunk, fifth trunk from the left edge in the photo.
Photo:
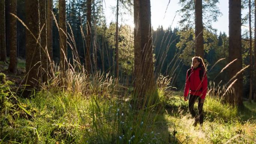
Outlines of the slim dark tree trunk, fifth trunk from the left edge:
M53 53L52 53L52 0L47 0L47 16L46 16L46 24L47 24L47 49L49 53L49 57L52 61Z

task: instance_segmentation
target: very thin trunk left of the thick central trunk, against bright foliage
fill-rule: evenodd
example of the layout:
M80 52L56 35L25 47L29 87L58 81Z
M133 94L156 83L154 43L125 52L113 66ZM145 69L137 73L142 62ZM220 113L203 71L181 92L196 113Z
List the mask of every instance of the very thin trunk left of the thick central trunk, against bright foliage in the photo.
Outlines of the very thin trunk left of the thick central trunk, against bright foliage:
M115 48L115 60L116 60L116 77L118 78L119 77L119 53L118 53L118 1L119 0L116 0L116 48Z

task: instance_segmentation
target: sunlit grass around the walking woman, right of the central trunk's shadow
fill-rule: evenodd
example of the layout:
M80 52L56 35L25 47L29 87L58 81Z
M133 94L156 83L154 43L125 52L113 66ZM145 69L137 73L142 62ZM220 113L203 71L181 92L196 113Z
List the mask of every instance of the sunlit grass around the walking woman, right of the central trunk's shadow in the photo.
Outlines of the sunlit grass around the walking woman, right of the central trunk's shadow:
M247 115L251 119L245 120L244 112L240 109L208 96L204 103L204 126L200 128L192 126L194 120L189 115L188 102L183 101L182 97L176 95L168 104L172 107L166 111L165 119L177 143L256 143L256 120L253 113ZM194 108L197 109L196 104Z

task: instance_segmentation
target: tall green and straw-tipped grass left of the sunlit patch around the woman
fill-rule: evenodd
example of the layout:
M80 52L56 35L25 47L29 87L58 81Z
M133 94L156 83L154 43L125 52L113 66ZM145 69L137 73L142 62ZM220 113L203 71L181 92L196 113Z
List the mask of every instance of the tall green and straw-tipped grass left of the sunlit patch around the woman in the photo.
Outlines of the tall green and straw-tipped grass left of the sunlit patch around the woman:
M161 105L134 110L129 96L116 95L115 80L108 75L90 81L69 73L62 79L64 89L57 87L60 79L30 98L1 96L0 143L168 142ZM7 94L8 89L2 90Z

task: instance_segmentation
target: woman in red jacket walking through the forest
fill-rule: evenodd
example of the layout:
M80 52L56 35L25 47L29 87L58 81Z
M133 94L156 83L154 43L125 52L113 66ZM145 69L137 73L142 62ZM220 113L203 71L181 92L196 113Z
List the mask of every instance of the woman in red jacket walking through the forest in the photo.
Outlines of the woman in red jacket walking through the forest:
M184 100L188 100L188 93L190 89L189 95L189 112L193 118L195 118L194 126L197 123L200 123L202 126L204 122L203 115L203 105L204 99L207 92L207 76L206 76L206 68L204 66L204 61L200 57L192 58L191 68L187 71L186 76L186 85L184 90ZM198 114L196 114L194 110L194 104L196 99L198 99ZM199 115L199 117L198 117Z

